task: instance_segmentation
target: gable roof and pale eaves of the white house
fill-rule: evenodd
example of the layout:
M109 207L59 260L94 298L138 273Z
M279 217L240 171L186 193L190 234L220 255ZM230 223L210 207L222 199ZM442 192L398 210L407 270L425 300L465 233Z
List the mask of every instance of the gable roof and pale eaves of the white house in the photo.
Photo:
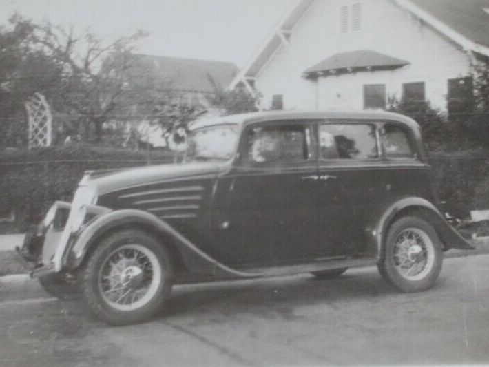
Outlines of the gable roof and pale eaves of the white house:
M291 11L278 23L258 52L233 79L231 89L259 74L280 45L287 44L287 32L293 29L314 1L297 0L294 3ZM461 45L464 50L489 56L489 14L485 10L489 8L489 0L391 1Z

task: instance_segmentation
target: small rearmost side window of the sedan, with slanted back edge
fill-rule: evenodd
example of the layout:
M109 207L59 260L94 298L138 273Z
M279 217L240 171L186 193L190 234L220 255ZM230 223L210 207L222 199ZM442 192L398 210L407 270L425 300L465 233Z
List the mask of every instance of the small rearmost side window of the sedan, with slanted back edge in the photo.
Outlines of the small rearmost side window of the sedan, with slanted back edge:
M385 123L380 129L380 140L387 158L413 159L415 157L408 134L399 125Z

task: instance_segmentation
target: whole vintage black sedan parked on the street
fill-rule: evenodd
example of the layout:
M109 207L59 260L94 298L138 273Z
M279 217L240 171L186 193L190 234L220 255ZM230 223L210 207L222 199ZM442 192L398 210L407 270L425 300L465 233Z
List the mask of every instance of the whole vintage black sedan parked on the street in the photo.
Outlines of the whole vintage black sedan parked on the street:
M48 291L72 284L110 324L141 322L173 284L377 265L433 286L470 249L437 209L417 123L386 112L260 112L205 120L183 164L89 171L21 255Z

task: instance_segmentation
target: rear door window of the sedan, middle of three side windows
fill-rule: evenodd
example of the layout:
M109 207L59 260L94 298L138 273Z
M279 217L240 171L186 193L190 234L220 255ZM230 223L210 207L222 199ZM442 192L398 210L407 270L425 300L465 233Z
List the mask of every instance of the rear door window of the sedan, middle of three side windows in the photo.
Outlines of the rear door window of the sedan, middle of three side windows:
M366 160L379 157L375 125L320 125L319 140L322 159Z

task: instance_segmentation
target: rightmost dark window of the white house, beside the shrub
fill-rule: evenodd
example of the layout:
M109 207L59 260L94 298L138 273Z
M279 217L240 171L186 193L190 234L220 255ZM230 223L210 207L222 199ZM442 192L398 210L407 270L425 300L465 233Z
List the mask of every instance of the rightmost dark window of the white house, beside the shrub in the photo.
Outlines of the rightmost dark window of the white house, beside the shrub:
M464 118L474 107L474 81L472 77L448 80L448 118Z

